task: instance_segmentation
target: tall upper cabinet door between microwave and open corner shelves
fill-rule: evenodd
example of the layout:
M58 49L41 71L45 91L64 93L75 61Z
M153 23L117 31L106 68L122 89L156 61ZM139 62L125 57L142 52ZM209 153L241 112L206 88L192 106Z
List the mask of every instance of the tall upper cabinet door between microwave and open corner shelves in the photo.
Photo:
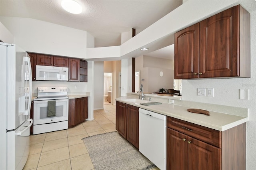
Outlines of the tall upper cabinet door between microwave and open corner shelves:
M80 77L80 59L69 58L68 67L68 80L69 81L79 81Z

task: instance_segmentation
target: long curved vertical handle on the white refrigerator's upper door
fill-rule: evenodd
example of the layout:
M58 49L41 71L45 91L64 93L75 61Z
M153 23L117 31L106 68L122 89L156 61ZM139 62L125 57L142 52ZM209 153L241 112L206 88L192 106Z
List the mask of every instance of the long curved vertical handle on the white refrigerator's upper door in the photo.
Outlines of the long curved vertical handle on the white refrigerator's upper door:
M24 115L30 115L31 98L32 98L32 69L31 69L30 58L24 57L24 61L28 62L28 82L29 82L28 89L25 89L25 91L29 91L28 92L28 109L25 110ZM27 79L27 77L26 77L26 79Z

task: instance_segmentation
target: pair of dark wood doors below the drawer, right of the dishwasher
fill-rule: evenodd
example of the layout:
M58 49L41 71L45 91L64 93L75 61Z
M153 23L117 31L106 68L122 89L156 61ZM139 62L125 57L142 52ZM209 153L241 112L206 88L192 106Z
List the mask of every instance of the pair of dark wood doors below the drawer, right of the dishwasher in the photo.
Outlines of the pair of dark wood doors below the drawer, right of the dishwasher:
M168 170L220 170L220 148L167 128Z

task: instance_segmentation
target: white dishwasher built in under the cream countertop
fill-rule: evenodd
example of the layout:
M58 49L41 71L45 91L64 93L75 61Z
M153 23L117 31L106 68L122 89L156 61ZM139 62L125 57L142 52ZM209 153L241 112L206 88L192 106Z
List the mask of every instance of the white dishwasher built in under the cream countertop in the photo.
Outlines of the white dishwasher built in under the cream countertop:
M139 150L160 170L166 170L166 116L139 109Z

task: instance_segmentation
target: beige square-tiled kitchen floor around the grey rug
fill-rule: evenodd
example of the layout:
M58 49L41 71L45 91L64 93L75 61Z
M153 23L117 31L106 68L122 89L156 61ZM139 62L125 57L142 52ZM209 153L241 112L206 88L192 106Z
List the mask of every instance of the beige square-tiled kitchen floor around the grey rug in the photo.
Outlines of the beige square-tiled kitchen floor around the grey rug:
M104 105L104 109L94 111L94 121L67 130L31 135L24 170L94 170L82 138L116 131L115 124L116 107Z

